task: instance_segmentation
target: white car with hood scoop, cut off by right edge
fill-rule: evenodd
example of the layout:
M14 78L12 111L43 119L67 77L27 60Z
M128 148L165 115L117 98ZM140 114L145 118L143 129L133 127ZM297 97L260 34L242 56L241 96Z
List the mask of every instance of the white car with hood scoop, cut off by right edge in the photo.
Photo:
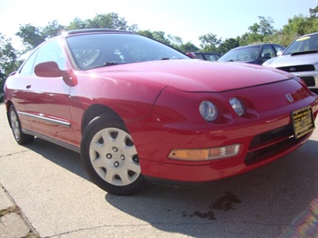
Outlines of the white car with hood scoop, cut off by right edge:
M318 32L295 39L282 55L262 65L294 73L318 92Z

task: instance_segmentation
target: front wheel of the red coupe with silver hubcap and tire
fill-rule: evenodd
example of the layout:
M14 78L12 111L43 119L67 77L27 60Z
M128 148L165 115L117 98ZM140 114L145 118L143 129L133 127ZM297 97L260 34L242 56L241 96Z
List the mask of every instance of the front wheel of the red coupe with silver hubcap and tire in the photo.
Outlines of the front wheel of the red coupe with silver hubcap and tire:
M86 127L81 158L90 179L105 191L131 195L147 185L133 139L114 115L100 115Z

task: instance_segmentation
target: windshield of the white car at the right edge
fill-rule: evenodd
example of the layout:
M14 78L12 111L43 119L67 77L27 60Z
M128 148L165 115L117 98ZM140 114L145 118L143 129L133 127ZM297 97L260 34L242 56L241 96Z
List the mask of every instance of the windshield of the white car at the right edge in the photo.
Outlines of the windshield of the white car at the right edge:
M286 48L283 55L312 50L318 51L318 34L297 38Z

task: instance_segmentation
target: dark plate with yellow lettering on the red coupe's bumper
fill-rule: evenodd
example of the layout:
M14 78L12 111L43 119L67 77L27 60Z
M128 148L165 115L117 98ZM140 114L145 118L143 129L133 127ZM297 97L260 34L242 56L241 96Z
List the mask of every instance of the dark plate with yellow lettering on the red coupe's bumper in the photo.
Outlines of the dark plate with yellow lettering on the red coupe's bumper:
M296 139L314 131L314 116L311 106L306 106L292 112L291 118L293 120L294 135Z

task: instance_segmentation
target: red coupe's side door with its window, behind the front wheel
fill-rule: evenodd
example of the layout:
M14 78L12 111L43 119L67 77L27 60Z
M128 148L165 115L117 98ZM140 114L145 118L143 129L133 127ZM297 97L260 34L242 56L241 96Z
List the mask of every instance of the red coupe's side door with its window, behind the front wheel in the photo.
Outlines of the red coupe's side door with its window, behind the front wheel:
M32 75L26 77L26 113L31 130L52 139L75 144L70 113L70 86L62 77L38 77L35 65L55 61L61 70L66 69L66 55L57 40L49 41L39 47Z

